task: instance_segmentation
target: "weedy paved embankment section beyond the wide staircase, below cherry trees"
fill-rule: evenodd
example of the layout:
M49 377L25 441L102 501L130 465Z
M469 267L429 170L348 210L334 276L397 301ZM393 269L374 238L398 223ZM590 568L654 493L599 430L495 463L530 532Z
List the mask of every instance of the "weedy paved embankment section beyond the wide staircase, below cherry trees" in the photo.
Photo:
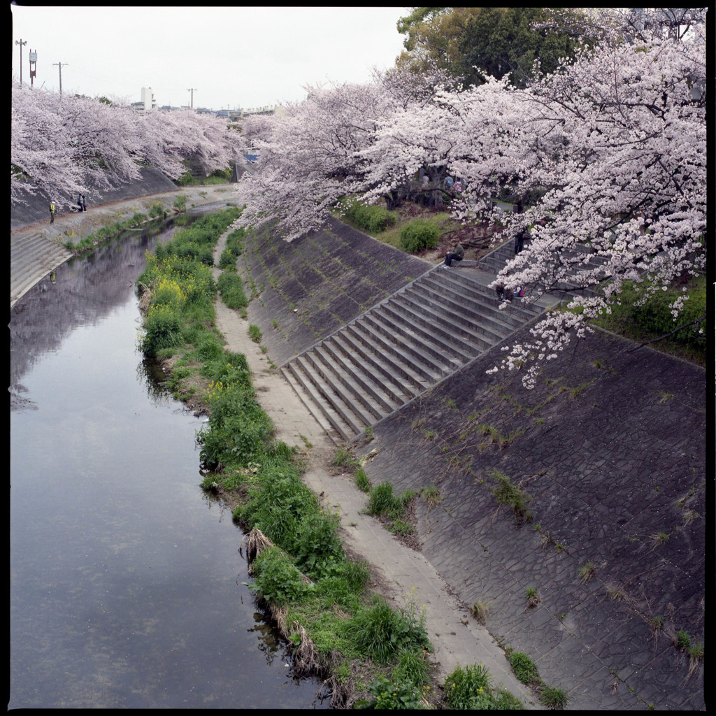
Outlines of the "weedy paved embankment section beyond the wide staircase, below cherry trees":
M271 227L248 233L237 269L256 296L248 319L277 366L422 276L430 263L336 219L294 241Z

